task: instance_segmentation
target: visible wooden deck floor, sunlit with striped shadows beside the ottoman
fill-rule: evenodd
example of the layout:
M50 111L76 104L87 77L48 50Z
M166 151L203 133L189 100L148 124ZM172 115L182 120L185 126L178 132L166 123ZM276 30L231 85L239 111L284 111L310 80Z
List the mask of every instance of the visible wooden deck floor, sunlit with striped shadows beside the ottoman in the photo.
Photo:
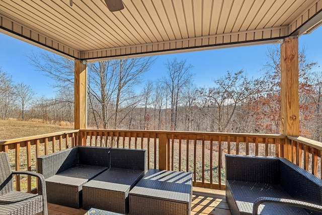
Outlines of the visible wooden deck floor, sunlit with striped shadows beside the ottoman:
M83 215L87 211L48 203L49 215ZM193 187L191 215L230 215L225 191Z

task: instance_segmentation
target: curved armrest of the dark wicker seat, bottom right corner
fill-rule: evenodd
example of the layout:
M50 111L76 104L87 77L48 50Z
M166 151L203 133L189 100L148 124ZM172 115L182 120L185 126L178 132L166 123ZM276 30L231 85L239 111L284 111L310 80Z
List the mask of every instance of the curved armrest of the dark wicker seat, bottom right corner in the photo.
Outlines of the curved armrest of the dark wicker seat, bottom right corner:
M302 207L302 208L322 212L321 205L312 204L305 201L298 201L298 200L286 199L286 198L259 197L254 202L253 215L258 215L258 207L260 206L260 204L264 202L291 205L295 207Z

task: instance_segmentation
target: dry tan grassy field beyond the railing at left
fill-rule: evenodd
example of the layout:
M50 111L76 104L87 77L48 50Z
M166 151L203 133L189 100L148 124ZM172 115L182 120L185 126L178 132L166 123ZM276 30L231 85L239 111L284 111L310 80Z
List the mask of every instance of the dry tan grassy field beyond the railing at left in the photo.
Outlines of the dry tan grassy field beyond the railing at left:
M73 129L73 125L52 125L41 122L0 120L0 140Z

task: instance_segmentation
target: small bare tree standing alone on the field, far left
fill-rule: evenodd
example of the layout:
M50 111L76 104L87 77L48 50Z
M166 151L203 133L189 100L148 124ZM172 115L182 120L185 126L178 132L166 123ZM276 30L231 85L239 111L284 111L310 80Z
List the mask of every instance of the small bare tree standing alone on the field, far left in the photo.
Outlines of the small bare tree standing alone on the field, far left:
M15 86L15 93L18 97L22 109L22 120L25 120L25 110L30 105L34 95L36 95L35 91L31 88L30 85L25 85L23 83L18 83Z

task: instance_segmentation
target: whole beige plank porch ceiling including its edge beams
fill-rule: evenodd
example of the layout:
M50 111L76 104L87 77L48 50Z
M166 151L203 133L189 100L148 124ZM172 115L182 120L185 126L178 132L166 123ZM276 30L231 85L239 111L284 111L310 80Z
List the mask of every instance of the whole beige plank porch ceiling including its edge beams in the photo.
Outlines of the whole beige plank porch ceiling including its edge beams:
M278 42L319 25L322 0L0 0L0 32L73 59Z

